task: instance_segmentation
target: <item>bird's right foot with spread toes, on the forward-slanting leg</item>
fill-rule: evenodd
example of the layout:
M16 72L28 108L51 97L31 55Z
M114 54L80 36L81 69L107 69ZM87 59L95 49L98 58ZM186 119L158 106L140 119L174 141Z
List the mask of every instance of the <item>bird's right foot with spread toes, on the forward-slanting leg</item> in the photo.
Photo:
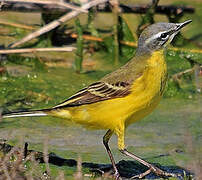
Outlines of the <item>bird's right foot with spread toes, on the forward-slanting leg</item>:
M133 176L131 179L142 179L144 178L146 175L150 174L150 173L154 173L159 177L179 177L181 175L179 174L174 174L174 173L168 173L165 171L162 171L161 169L155 167L155 166L151 166L150 169L148 169L147 171L145 171L144 173L138 174L136 176Z

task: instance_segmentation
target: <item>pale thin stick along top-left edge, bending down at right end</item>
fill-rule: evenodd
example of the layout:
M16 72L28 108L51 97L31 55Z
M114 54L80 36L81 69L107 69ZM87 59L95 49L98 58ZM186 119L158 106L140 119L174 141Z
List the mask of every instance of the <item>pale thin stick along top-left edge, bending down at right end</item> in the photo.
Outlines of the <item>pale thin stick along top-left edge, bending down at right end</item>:
M57 5L57 6L63 6L67 9L72 9L75 11L80 11L87 13L88 11L86 9L80 8L78 6L66 3L66 2L61 2L61 1L47 1L47 0L3 0L4 3L11 2L11 3L31 3L31 4L45 4L45 5Z

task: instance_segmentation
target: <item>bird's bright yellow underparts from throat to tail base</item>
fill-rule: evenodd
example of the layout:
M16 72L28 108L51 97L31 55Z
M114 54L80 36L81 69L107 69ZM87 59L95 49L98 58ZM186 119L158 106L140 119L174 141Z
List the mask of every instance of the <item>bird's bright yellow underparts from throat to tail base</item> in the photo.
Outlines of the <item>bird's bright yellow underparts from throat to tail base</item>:
M67 122L81 124L87 128L111 130L142 119L158 105L166 81L163 56L158 59L152 56L148 62L143 75L135 80L128 96L69 107L52 115L65 117Z

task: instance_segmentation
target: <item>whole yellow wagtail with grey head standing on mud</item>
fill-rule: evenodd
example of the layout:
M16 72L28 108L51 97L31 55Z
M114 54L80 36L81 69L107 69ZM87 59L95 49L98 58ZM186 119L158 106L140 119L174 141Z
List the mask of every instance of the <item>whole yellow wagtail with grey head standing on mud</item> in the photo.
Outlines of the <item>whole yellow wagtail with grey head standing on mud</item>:
M147 27L139 37L136 55L131 61L61 104L49 109L3 114L2 117L51 115L86 128L107 129L103 143L114 168L115 179L120 175L108 146L112 134L118 137L121 153L148 167L146 172L136 177L141 178L150 172L161 177L176 176L128 152L124 134L126 127L151 113L158 105L167 80L164 49L190 22L156 23Z

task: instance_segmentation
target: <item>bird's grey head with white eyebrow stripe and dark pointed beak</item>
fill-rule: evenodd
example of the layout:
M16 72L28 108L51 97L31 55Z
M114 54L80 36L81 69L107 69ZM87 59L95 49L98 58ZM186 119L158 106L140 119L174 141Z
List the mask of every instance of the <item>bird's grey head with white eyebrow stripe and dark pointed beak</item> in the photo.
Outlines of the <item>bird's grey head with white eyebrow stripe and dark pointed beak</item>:
M181 28L192 22L183 23L155 23L147 27L140 35L136 55L151 54L166 47Z

